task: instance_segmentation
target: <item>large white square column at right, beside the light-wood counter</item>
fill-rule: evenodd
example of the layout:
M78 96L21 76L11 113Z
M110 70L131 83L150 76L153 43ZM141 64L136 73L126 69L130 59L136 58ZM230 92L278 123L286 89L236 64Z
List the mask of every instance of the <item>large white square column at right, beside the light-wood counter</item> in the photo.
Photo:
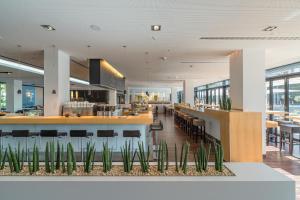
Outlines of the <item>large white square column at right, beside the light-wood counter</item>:
M262 113L262 149L265 154L265 49L243 49L230 56L232 107Z

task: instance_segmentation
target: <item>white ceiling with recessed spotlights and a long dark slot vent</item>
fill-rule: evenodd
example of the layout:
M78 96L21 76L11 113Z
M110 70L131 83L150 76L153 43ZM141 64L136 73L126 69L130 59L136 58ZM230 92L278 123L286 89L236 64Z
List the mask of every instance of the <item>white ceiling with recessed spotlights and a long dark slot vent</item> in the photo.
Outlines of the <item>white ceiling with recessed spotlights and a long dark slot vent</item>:
M152 32L153 24L162 30ZM265 48L270 68L300 60L300 41L200 37L299 37L299 24L299 0L1 0L0 55L42 66L42 50L54 44L85 66L87 58L107 59L129 86L201 84L228 78L236 49ZM278 29L263 32L269 25ZM71 74L88 79L75 63Z

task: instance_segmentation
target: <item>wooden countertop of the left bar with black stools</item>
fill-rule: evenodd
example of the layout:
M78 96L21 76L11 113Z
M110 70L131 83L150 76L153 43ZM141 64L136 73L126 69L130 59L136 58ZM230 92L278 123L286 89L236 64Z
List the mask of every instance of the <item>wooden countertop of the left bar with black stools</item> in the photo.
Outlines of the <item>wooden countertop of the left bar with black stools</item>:
M0 124L146 124L153 123L152 112L137 116L2 116Z

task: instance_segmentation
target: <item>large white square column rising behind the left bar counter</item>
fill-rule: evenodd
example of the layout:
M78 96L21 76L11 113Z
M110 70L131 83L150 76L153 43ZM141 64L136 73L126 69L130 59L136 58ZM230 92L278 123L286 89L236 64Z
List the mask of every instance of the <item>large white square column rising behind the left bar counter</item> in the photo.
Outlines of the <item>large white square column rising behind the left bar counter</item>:
M56 47L44 50L44 114L61 114L70 100L70 56Z

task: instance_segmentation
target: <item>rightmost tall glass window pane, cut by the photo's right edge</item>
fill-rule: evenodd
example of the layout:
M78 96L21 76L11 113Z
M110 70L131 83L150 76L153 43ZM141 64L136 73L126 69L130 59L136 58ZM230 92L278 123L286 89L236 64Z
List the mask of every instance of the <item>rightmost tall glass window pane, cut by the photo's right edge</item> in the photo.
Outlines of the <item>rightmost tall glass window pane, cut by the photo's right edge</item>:
M300 77L289 79L289 112L300 114Z

